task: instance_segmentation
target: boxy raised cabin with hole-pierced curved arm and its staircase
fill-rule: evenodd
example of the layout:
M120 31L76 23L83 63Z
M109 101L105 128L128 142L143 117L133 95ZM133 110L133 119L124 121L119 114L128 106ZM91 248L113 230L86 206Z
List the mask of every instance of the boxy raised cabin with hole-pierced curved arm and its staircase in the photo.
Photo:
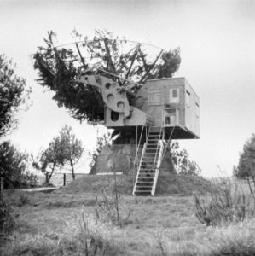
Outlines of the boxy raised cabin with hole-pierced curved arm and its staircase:
M165 141L200 137L200 99L187 79L148 80L136 94L130 91L134 84L122 87L100 75L84 74L78 82L101 89L104 125L108 128L117 132L140 128L140 143L144 144L133 195L154 195Z

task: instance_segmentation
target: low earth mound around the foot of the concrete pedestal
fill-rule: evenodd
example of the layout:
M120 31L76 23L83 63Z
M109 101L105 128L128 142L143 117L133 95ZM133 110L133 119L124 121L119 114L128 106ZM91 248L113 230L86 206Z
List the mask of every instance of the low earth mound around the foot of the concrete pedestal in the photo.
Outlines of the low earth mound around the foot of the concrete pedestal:
M121 194L132 195L133 176L118 175L118 189ZM79 178L61 190L59 193L98 193L103 189L113 189L114 177L103 175L88 175ZM212 183L203 177L180 176L177 174L159 175L155 195L192 195L194 192L206 194L212 189Z

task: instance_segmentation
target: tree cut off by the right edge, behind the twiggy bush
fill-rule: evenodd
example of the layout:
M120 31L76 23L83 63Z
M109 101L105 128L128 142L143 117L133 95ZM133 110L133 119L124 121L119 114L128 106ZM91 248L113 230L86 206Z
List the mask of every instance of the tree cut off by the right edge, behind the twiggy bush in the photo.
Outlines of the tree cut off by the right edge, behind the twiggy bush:
M243 179L248 183L251 193L255 189L255 134L246 141L243 151L239 157L238 166L234 166L235 177ZM253 191L252 191L253 184Z

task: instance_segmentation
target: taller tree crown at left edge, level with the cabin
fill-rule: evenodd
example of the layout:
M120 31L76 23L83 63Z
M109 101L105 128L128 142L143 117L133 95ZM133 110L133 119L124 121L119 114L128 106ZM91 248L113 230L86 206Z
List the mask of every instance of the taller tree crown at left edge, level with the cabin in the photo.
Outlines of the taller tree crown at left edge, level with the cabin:
M14 74L14 64L0 55L0 137L18 125L15 113L26 102L31 89L25 89L26 80Z

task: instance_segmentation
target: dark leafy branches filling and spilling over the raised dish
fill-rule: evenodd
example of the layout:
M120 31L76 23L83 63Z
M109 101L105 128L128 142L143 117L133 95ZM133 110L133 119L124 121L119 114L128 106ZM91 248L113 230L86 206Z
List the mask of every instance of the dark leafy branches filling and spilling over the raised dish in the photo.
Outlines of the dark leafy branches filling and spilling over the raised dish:
M75 82L84 71L101 73L121 86L125 85L125 79L129 79L137 84L133 89L136 90L146 79L171 77L181 62L179 49L160 52L161 55L156 56L159 61L155 61L149 60L141 44L123 52L125 38L120 40L107 31L96 31L93 40L83 38L77 31L73 35L77 41L83 39L79 46L73 44L77 49L69 45L55 47L56 34L48 32L48 38L44 38L46 45L38 47L34 54L34 68L38 71L38 83L54 91L53 99L58 106L67 108L78 120L103 119L104 103L100 90ZM81 50L85 57L80 55Z

